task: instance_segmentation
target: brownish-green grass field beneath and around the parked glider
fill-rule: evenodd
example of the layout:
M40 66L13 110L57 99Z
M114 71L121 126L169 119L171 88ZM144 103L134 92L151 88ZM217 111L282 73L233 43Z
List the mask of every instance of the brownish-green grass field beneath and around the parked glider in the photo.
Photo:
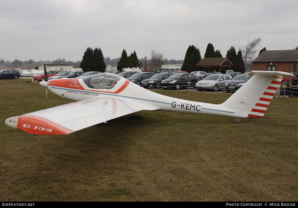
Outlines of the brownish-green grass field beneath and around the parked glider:
M297 201L297 98L261 119L140 111L69 135L30 136L5 119L65 100L0 80L0 201ZM219 104L231 94L156 90ZM88 109L84 109L88 110ZM75 112L69 112L73 114Z

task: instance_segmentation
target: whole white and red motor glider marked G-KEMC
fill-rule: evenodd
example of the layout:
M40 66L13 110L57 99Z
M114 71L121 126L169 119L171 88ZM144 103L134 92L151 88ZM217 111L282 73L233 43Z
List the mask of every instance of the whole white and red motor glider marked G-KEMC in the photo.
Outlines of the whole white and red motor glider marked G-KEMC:
M76 102L14 116L5 123L32 135L69 134L141 110L230 116L238 122L239 118L263 117L282 78L294 77L277 71L249 75L252 78L222 104L164 96L112 73L41 81L54 94ZM69 110L76 114L69 115Z

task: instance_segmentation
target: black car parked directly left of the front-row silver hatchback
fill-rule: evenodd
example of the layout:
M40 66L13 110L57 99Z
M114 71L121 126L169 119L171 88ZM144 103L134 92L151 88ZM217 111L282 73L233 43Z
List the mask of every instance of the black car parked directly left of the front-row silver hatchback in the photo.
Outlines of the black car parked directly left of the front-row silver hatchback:
M162 81L162 88L164 89L180 89L188 87L188 81L190 81L190 86L195 88L195 83L199 79L190 73L176 73L170 76L168 79Z

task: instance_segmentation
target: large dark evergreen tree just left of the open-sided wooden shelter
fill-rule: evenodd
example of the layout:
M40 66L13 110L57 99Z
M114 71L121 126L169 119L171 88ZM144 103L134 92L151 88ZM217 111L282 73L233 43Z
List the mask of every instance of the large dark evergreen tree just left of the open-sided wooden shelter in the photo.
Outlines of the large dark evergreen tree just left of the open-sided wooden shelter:
M201 61L201 53L199 48L194 45L190 45L186 51L184 63L181 67L182 71L188 73L196 70L196 65Z

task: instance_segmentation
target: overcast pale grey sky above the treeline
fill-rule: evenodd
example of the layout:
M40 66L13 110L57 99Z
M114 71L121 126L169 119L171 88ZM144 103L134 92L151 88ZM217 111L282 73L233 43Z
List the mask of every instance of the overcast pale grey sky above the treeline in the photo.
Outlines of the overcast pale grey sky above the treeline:
M298 46L297 0L0 0L0 59L81 61L86 48L111 59L150 51L184 59L208 43L223 57L261 37L258 51Z

